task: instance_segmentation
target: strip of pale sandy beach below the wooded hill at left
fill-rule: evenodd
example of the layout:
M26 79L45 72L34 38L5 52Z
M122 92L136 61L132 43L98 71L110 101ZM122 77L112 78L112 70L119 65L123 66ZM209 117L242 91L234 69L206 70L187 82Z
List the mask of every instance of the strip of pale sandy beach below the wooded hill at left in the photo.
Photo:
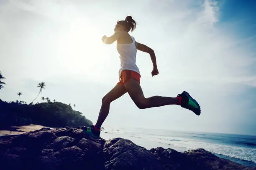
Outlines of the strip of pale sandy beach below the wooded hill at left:
M20 135L26 132L39 130L41 128L44 128L45 126L41 125L26 125L26 126L12 126L13 128L18 128L17 131L11 131L11 130L0 130L0 136L3 135Z

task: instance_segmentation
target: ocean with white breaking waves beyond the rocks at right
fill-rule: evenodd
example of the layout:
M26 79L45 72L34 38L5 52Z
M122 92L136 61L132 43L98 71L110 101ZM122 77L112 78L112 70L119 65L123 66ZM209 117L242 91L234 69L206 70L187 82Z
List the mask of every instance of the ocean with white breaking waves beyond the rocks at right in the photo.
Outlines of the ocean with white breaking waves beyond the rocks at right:
M204 148L220 158L256 167L256 136L128 128L105 128L100 136L105 140L128 139L148 150L162 147L184 152Z

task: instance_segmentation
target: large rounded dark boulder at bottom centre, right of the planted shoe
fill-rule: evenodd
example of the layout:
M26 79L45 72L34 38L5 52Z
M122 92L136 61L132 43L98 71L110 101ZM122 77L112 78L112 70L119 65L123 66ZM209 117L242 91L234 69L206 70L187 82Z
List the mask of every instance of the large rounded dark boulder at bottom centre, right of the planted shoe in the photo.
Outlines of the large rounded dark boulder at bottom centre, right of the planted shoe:
M115 138L104 146L105 166L110 170L161 170L159 161L148 150L131 140Z

